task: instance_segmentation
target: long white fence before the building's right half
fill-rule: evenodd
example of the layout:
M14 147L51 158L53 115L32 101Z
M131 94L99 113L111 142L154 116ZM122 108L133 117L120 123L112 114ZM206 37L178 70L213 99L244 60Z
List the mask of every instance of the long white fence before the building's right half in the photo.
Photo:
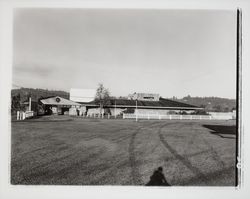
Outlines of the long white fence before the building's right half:
M211 115L158 115L158 114L131 114L124 113L123 119L167 119L167 120L229 120L230 116L211 116Z

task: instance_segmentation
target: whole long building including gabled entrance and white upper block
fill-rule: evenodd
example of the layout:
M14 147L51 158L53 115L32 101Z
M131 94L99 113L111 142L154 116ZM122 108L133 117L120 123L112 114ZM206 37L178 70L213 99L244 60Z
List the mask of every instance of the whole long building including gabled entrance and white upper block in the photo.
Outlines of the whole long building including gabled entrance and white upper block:
M139 113L139 114L175 114L175 113L192 113L203 108L177 102L174 100L159 97L159 94L137 93L132 98L127 99L106 99L102 102L94 100L93 91L70 92L74 96L64 99L59 96L51 96L39 100L43 109L43 114L58 115L95 115L109 114L117 116L122 113ZM92 101L90 101L92 100ZM102 108L100 108L102 107Z

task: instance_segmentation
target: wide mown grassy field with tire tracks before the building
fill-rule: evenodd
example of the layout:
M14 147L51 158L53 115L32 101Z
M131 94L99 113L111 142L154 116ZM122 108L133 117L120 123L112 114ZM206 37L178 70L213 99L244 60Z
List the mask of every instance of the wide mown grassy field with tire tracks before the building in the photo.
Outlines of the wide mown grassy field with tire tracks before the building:
M12 122L11 183L145 185L163 167L172 186L234 186L235 121Z

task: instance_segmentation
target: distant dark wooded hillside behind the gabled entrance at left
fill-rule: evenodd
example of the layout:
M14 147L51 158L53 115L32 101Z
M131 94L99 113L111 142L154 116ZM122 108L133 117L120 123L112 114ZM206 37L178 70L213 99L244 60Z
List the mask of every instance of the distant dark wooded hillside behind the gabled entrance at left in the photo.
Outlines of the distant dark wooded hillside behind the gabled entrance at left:
M21 102L26 101L29 96L31 96L32 101L37 101L41 97L49 97L55 95L69 99L69 93L65 91L54 91L34 88L19 88L11 90L11 97L17 96L19 94Z

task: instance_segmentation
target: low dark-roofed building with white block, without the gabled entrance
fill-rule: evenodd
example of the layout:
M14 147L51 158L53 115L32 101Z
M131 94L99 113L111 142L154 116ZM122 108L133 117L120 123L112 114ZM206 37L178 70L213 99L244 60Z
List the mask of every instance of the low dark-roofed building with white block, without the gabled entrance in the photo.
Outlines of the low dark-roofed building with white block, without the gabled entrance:
M203 108L185 104L160 97L153 93L134 93L128 99L106 99L100 103L94 100L95 90L89 89L71 89L70 99L80 104L82 110L80 115L109 114L112 116L122 113L138 114L190 114ZM92 99L92 101L89 101ZM103 108L100 110L100 105ZM79 108L78 108L79 109Z

